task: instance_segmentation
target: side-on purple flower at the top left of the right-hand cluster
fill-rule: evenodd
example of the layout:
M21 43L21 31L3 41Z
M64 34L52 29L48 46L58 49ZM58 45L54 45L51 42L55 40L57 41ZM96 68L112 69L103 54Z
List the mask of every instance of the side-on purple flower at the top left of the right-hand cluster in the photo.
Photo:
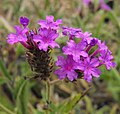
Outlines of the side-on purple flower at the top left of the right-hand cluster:
M80 28L62 26L62 29L63 29L63 32L62 32L63 35L69 36L70 40L73 39L77 33L81 32Z

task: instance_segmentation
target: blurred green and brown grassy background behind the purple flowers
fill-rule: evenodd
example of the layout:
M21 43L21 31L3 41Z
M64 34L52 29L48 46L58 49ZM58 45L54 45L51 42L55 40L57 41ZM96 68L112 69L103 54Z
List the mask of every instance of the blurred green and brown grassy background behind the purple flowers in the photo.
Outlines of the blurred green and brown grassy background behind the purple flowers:
M94 3L97 7L97 0ZM110 71L102 67L101 77L91 83L78 80L77 85L65 82L53 85L52 103L47 113L64 114L61 107L68 103L73 105L63 105L68 106L64 110L69 110L65 114L120 114L120 0L112 3L111 11L91 12L82 0L0 0L0 114L46 112L45 84L23 78L32 75L25 59L25 49L20 44L11 46L6 42L7 35L14 31L13 26L19 24L20 16L28 17L31 21L29 27L34 29L46 15L61 18L63 25L82 28L105 40L117 64ZM65 43L63 39L58 40L61 45ZM59 51L53 52L55 59L56 53ZM90 85L93 86L87 95L78 103L74 102Z

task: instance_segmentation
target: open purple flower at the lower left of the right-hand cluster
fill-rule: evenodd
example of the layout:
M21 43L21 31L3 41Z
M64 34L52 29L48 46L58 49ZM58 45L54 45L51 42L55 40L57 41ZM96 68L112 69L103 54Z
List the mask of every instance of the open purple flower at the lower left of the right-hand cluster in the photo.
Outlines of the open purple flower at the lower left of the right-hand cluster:
M64 79L65 77L68 77L70 81L77 79L78 74L75 72L75 69L78 64L73 60L72 56L67 56L66 59L59 56L56 65L61 67L55 71L55 74L59 76L59 79Z

